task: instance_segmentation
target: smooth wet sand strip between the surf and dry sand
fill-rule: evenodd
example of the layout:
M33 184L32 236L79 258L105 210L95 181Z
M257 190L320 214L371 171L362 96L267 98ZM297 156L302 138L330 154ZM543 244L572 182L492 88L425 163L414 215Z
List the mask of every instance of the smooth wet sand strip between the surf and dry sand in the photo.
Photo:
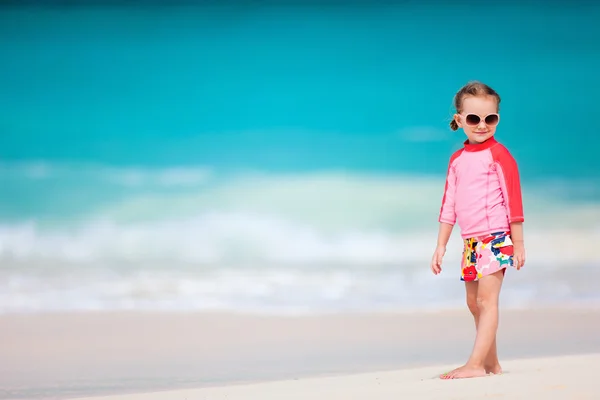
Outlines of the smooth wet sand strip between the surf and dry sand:
M3 315L0 388L7 398L67 399L450 367L464 363L474 335L466 309ZM600 353L598 337L600 308L500 314L501 363Z

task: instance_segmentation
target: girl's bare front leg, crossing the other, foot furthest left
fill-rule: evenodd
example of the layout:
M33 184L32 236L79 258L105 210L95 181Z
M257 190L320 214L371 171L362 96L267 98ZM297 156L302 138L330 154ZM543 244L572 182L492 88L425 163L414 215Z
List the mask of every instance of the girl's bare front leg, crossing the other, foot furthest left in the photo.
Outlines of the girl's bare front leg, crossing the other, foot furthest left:
M442 376L444 379L473 378L486 375L485 362L496 339L498 329L498 300L504 273L502 270L479 279L477 308L479 320L477 337L469 360L465 365Z

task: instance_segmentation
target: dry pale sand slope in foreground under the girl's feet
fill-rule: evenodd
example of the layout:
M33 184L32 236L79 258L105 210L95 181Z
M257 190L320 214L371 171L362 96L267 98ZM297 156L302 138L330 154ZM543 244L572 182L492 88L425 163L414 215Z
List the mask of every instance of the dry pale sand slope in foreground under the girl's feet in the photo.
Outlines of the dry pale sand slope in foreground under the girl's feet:
M279 399L598 399L600 354L532 358L505 363L507 371L479 379L443 381L450 366L405 369L250 385L89 397L81 400Z

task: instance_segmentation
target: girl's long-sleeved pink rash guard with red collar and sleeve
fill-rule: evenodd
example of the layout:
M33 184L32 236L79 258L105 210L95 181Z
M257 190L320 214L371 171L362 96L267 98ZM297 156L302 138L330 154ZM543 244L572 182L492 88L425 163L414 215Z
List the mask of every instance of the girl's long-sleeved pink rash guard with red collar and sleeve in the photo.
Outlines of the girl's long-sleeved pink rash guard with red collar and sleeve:
M456 151L448 165L439 222L458 222L463 238L510 231L523 222L517 162L492 136Z

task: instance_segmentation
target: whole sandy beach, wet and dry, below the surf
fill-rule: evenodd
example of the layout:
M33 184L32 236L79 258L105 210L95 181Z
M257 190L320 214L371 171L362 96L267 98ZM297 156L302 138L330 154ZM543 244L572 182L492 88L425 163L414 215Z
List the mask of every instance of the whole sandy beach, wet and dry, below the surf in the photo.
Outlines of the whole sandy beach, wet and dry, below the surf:
M505 373L462 364L466 310L328 316L72 313L0 317L6 399L597 399L600 310L505 310Z

